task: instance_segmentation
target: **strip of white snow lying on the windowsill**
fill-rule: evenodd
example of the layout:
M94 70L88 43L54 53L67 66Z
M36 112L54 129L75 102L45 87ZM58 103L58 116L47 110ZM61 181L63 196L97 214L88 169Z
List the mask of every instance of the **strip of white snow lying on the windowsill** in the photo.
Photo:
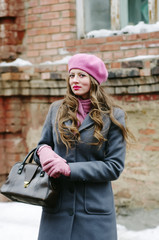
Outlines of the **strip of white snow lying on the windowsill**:
M159 22L155 24L145 24L144 22L139 22L136 25L127 25L121 30L93 30L86 34L87 38L93 37L108 37L113 35L122 35L122 34L137 34L137 33L148 33L148 32L157 32L159 31Z

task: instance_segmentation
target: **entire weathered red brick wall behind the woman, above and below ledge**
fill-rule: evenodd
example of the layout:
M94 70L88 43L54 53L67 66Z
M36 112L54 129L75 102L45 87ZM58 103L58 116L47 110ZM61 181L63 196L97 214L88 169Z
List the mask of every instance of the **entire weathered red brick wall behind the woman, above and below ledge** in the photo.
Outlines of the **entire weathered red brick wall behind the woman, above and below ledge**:
M0 61L18 57L29 67L0 67L0 184L11 166L36 146L50 103L66 92L67 65L40 65L78 52L101 57L104 87L123 105L138 141L113 183L118 207L159 207L159 32L77 39L75 0L0 0ZM2 198L2 196L0 196Z

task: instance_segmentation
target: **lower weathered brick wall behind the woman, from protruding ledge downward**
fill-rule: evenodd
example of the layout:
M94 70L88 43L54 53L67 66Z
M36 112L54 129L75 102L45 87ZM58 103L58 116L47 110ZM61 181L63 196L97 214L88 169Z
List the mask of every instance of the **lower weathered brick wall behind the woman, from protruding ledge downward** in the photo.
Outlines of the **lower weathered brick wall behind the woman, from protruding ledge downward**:
M108 69L104 87L127 110L137 143L127 151L121 178L113 182L116 206L159 207L158 60L122 65L126 68L120 71ZM65 71L61 73L61 69ZM11 166L36 146L51 102L65 94L66 69L66 64L0 68L1 183Z

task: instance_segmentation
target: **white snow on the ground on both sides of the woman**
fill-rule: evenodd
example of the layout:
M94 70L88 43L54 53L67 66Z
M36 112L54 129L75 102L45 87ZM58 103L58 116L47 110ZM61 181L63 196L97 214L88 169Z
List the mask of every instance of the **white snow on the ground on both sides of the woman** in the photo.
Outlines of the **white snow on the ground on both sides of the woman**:
M41 207L22 203L0 203L1 240L37 240ZM159 226L140 231L119 225L118 240L159 240Z

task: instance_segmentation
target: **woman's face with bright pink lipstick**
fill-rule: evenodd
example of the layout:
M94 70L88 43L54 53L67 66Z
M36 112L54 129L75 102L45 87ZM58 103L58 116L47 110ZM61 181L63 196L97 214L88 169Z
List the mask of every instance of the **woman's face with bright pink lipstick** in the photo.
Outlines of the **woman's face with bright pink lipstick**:
M83 99L89 98L91 80L88 73L80 69L72 69L69 76L72 92Z

